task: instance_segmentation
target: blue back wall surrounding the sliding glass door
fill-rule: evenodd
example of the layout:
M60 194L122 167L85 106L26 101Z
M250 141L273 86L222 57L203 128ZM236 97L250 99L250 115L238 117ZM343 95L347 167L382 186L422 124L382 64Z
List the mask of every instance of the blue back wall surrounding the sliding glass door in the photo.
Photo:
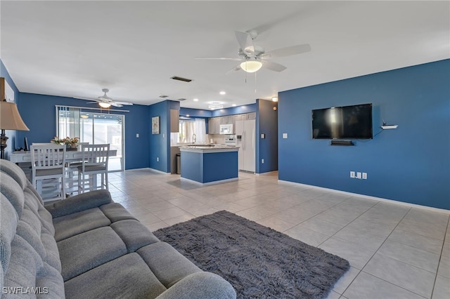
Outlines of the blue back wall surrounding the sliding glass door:
M18 109L30 131L19 131L18 147L23 147L23 139L32 142L49 142L56 135L56 105L90 107L87 100L58 97L53 95L37 95L20 93ZM129 112L111 112L125 115L125 167L127 169L148 167L148 142L150 125L148 123L148 106L133 105L122 108ZM100 112L100 110L93 110ZM139 133L139 138L136 138Z

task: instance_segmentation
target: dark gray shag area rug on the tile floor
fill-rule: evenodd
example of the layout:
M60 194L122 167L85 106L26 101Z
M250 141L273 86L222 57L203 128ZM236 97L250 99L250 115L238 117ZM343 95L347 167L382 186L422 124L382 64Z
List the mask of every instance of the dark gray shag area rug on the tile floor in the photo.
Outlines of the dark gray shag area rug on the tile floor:
M153 232L238 298L326 298L347 260L227 211Z

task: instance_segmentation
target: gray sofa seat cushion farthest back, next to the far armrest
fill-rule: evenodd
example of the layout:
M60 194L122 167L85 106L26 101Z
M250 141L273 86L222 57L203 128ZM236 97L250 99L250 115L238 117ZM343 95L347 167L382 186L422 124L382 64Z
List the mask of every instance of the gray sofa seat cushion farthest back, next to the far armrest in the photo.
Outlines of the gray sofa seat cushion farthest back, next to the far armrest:
M61 241L82 232L108 226L110 223L110 220L99 208L89 208L85 211L64 215L53 219L55 239Z

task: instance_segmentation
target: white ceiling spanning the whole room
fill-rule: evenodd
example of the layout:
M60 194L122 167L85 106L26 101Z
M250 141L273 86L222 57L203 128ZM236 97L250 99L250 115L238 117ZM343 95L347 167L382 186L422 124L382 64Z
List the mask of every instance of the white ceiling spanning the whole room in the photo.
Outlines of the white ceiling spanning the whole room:
M19 91L207 109L450 58L450 1L1 1L1 59ZM234 31L257 29L283 72L226 74ZM191 83L174 81L179 76ZM246 80L246 82L245 82ZM255 92L256 90L256 92ZM226 95L219 95L226 91ZM198 102L193 102L198 98Z

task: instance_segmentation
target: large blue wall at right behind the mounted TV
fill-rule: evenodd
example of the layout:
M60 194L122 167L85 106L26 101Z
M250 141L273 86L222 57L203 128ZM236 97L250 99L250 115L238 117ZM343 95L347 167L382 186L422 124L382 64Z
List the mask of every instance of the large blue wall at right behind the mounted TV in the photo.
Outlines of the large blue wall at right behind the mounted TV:
M279 179L450 209L449 77L442 60L279 93ZM373 140L312 140L312 109L368 102ZM382 131L383 119L399 127Z

